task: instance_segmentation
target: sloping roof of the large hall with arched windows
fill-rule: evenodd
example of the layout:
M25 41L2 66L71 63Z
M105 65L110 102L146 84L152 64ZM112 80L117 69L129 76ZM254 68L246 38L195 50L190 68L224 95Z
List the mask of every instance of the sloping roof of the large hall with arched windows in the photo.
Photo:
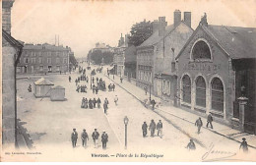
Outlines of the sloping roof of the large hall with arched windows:
M255 27L202 26L223 47L230 58L256 58Z

